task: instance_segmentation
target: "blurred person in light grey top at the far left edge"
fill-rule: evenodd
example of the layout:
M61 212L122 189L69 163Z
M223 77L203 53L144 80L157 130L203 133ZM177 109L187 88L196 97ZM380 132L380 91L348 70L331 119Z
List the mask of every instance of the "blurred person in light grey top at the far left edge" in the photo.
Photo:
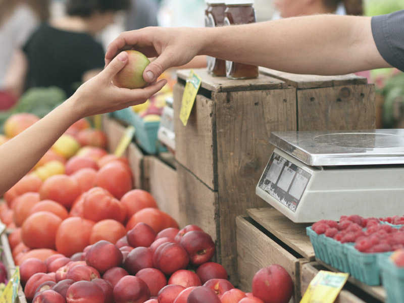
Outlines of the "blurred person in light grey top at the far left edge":
M16 97L5 89L5 77L14 54L41 22L49 18L49 0L0 0L0 111Z

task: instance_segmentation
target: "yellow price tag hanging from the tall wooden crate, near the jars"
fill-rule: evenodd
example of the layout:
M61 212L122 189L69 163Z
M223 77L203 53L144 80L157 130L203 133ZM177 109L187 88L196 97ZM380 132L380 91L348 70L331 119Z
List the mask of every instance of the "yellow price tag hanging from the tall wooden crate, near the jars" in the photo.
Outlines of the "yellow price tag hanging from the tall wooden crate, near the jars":
M191 114L193 103L195 102L196 94L198 93L201 82L202 80L200 77L196 75L193 70L191 70L188 79L186 79L180 110L180 119L184 126L186 126L188 122L189 115Z

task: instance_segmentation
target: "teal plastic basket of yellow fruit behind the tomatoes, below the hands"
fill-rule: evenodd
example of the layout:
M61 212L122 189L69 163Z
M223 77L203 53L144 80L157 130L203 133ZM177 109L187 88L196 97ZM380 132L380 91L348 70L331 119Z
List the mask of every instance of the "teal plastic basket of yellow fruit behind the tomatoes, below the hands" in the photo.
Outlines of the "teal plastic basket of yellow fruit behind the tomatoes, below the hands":
M160 141L157 139L157 131L160 125L159 121L144 122L131 108L113 112L112 116L135 127L136 143L147 154L157 154L167 151L167 148L161 145Z

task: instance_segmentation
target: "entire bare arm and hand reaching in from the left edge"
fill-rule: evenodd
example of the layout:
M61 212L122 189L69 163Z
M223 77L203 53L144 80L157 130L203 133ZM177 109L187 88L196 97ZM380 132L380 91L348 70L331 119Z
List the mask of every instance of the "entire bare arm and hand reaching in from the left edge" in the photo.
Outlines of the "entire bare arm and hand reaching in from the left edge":
M166 80L160 80L144 89L116 87L111 80L127 59L126 53L117 56L62 105L0 146L0 196L27 174L74 122L143 103L166 84Z

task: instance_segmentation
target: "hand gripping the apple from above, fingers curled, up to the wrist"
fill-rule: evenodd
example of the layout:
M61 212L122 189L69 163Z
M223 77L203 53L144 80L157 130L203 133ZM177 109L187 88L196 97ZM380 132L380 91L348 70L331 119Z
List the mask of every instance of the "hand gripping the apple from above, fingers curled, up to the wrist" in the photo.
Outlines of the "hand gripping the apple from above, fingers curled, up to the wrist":
M148 58L157 57L143 72L143 78L153 83L168 68L181 66L196 55L200 49L198 29L146 27L120 34L108 46L106 66L121 51L135 49Z

